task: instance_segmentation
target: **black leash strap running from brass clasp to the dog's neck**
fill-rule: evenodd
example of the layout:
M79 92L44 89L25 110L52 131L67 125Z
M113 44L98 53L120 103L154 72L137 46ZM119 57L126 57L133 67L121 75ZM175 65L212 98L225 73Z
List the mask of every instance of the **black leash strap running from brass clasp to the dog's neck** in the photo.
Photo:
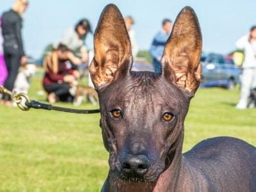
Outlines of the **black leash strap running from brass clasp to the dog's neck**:
M45 104L42 102L38 102L36 100L31 100L30 102L25 102L28 108L34 109L47 109L47 110L55 110L55 111L63 111L68 113L100 113L99 109L70 109L70 108L61 108L58 106L52 106L51 104Z

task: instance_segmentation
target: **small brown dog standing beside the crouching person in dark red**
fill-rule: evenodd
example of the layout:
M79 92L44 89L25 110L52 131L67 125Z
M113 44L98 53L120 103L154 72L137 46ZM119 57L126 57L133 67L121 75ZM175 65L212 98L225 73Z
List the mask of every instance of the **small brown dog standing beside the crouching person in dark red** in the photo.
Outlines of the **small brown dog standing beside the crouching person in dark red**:
M92 102L93 105L97 105L99 101L98 93L90 86L77 85L73 101L74 106L81 105L84 99Z

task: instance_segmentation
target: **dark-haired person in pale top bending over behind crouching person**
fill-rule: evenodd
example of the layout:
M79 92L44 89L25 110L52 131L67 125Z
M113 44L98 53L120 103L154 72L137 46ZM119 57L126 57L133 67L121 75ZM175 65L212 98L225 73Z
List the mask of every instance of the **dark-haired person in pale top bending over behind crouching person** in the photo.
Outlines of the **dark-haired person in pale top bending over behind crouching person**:
M75 65L88 62L88 51L84 42L88 33L92 33L91 24L88 19L81 19L75 28L68 29L58 42L66 45L76 55L73 61Z

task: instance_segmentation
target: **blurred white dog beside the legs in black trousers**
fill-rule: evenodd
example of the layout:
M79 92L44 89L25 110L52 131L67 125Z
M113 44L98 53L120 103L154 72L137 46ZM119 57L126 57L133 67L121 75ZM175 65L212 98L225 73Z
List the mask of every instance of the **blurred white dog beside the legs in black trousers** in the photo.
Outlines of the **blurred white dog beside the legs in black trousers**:
M26 64L20 67L17 78L15 79L13 91L17 93L28 94L30 87L30 79L35 75L36 66L34 64Z

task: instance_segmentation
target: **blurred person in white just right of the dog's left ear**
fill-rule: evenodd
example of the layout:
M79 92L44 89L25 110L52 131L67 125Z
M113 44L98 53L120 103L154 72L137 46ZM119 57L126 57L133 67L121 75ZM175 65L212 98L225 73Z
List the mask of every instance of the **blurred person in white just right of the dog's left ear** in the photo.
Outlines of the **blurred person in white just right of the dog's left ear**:
M132 46L132 57L136 58L138 53L138 44L135 39L135 31L132 29L132 26L134 25L134 19L131 16L127 16L124 18L125 26L129 34L129 38L131 40L131 46Z

